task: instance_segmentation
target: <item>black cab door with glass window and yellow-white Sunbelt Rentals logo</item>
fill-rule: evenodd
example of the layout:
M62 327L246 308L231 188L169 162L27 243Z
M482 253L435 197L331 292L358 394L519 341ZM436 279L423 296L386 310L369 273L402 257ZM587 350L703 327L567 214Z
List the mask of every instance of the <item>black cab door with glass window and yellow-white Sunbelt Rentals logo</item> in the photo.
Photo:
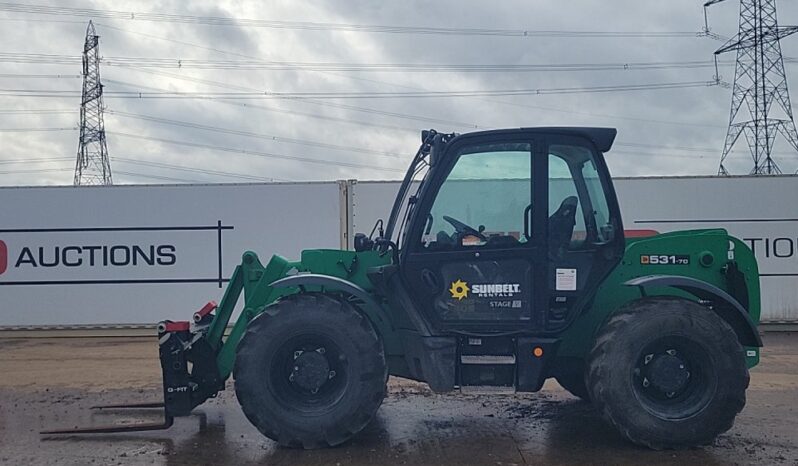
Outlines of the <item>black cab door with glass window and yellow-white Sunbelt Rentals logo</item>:
M544 328L542 152L523 133L465 138L433 167L403 242L401 273L437 329Z

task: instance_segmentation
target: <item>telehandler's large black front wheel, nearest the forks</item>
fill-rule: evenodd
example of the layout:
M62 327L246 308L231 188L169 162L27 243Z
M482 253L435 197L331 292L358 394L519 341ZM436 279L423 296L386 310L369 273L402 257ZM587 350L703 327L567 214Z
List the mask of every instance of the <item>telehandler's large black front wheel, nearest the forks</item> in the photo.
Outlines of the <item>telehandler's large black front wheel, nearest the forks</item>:
M329 295L297 294L270 305L249 323L237 351L241 408L282 446L344 443L385 398L380 339L365 316Z

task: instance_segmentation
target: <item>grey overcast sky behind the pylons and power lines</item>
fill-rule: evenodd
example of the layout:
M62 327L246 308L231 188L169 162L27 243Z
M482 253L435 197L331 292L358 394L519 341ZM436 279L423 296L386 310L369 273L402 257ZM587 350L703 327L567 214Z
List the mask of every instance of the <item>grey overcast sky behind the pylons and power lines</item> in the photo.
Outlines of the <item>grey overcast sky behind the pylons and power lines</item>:
M536 72L419 72L406 68L390 72L307 68L245 70L237 65L232 66L234 69L172 67L177 60L186 63L197 60L205 66L225 60L253 59L349 65L709 63L712 52L721 42L690 34L635 38L540 37L534 34L502 37L256 27L264 24L241 21L697 33L703 28L701 4L695 0L98 0L40 5L133 13L125 18L94 19L104 57L102 79L108 93L105 98L108 150L114 181L122 184L242 182L255 178L281 181L398 179L418 146L422 129L468 132L544 125L618 128L619 144L607 155L615 176L715 174L731 99L730 89L718 86L514 97L313 101L230 100L218 96L213 99L123 99L113 96L113 92L118 91L383 93L710 82L714 74L710 67L639 70L631 66L627 70ZM5 5L7 10L9 4ZM734 0L713 6L710 10L713 32L734 35L738 8L739 3ZM782 1L779 8L782 24L798 23L796 2ZM227 25L198 24L194 20L146 21L135 13L222 17L235 21L225 23ZM79 57L89 19L64 12L45 15L0 11L0 52ZM798 56L798 35L783 40L782 47L785 56ZM119 66L114 58L140 60ZM152 64L155 58L174 61L163 62L159 67L142 66ZM722 58L725 63L733 59L733 55ZM0 59L0 89L79 91L80 72L79 63L15 63L6 57ZM788 64L787 72L789 83L798 83L798 66ZM49 77L54 74L64 77ZM730 81L734 69L723 65L721 74ZM793 95L793 98L798 97ZM72 183L79 104L80 98L75 95L0 96L0 185ZM20 110L58 112L19 113ZM172 124L166 124L167 121ZM194 127L187 127L186 123ZM49 131L32 131L34 129ZM785 173L798 169L798 154L783 141L777 143L775 152L775 159ZM28 159L29 162L22 162ZM37 162L35 159L44 160ZM740 141L727 167L732 173L744 174L751 166L747 148Z

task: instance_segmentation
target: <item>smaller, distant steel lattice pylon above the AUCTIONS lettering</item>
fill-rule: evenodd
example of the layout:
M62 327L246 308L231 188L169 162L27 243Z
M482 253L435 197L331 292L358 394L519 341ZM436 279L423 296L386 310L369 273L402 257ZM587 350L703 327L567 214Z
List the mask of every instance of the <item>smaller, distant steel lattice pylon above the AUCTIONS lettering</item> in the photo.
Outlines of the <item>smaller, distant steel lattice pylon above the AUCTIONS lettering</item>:
M83 45L83 94L80 101L80 140L75 163L75 186L112 185L105 142L103 85L100 82L100 36L89 21Z

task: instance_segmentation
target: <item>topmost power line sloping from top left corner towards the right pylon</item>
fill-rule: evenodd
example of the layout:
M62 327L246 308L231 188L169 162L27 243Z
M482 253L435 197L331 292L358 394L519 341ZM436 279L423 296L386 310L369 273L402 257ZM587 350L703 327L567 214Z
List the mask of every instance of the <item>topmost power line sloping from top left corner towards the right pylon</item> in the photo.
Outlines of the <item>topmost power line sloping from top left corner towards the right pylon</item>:
M172 22L206 26L257 27L302 31L346 31L390 34L499 36L499 37L579 37L579 38L689 38L692 31L568 31L492 28L442 28L427 26L391 26L374 24L325 23L311 21L276 21L218 16L192 16L166 13L68 8L22 3L0 3L0 11L25 14L110 18L130 21Z

